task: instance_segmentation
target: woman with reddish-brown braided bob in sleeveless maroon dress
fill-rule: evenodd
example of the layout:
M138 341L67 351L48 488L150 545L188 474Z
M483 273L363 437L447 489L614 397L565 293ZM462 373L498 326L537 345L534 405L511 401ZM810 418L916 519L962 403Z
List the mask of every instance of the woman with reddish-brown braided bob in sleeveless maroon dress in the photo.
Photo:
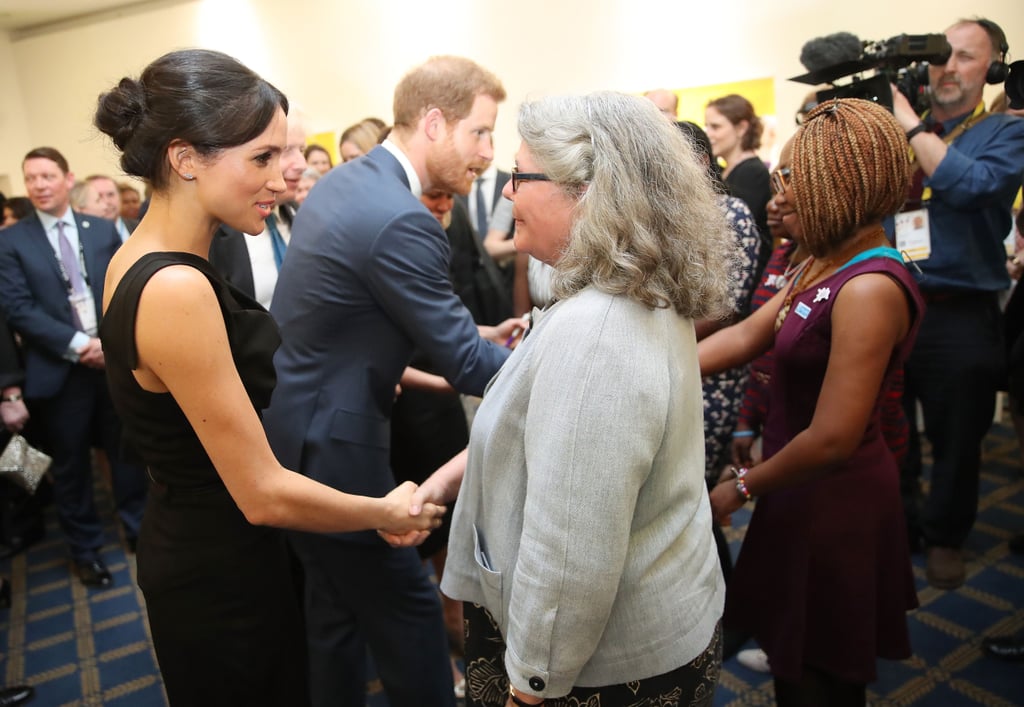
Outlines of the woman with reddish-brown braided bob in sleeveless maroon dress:
M810 257L767 304L698 345L703 374L774 346L764 461L723 474L711 499L722 519L759 497L725 625L768 654L779 705L863 705L877 658L910 655L916 595L879 422L924 308L882 227L909 174L885 109L818 106L792 167L772 174L783 223Z

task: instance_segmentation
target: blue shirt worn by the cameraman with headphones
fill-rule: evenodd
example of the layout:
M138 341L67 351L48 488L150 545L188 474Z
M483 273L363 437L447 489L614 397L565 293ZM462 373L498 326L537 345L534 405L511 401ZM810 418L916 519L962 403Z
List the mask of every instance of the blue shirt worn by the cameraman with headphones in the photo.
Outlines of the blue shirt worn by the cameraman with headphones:
M965 118L943 127L949 132ZM932 253L916 261L922 290L1010 287L1002 241L1013 225L1011 207L1022 180L1024 120L990 115L953 140L924 182L932 190L926 202Z

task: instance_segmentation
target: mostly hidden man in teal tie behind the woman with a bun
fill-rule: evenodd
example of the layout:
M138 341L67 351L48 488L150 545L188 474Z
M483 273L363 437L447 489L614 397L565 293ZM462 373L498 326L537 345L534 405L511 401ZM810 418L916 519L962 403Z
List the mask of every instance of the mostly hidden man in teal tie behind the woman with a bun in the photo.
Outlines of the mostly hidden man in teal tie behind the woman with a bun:
M285 191L278 195L273 212L264 219L266 227L260 234L247 235L221 225L210 244L210 264L224 280L267 309L278 285L278 272L291 241L292 221L297 208L295 191L306 169L305 147L305 128L301 117L293 112L288 117L288 143L281 154Z

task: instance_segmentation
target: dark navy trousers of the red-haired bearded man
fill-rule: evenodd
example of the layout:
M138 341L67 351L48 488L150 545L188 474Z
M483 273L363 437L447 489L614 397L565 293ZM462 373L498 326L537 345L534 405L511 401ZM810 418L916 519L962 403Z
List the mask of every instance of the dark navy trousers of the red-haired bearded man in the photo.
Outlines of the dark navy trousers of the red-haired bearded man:
M313 707L365 707L367 649L390 707L454 707L437 589L414 548L293 533Z

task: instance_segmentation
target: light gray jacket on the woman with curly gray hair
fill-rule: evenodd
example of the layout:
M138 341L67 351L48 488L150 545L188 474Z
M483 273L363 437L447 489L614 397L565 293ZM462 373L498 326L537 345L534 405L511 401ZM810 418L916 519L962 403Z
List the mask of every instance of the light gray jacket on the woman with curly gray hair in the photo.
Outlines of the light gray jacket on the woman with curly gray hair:
M593 288L535 317L473 421L441 589L558 697L690 662L724 582L692 322Z

